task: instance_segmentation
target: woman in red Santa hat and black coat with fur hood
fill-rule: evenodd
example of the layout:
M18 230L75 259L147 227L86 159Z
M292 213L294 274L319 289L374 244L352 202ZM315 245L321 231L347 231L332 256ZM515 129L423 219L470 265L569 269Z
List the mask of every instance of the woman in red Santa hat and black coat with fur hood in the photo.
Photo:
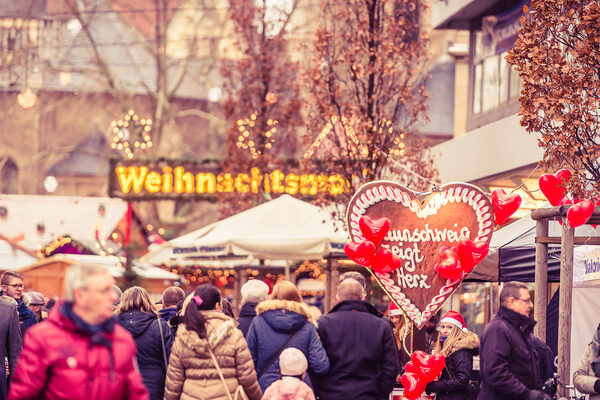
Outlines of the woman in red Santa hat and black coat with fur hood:
M435 393L437 400L471 400L477 392L471 388L473 356L479 353L479 338L465 327L456 311L448 311L440 322L440 335L434 349L446 358L439 380L427 384L425 391Z

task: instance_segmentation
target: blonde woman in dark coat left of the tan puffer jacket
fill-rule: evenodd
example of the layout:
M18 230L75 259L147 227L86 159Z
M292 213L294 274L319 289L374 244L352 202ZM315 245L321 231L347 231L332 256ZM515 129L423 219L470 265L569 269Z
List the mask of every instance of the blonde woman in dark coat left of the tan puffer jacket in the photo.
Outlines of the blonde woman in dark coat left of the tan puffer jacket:
M137 346L137 363L151 400L162 400L173 334L145 289L133 286L123 292L117 307L117 321Z

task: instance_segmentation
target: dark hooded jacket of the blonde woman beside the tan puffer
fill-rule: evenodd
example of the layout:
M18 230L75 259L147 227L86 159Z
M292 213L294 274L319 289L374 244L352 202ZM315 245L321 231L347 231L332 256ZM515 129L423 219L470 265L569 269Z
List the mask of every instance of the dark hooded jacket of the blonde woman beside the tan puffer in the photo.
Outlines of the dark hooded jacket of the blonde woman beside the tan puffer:
M117 316L117 321L131 333L135 340L138 367L144 379L144 385L150 392L150 400L162 400L167 374L162 343L164 343L168 361L173 345L171 328L162 318L159 319L153 313L143 313L140 310L124 312ZM159 322L162 327L162 341L158 328Z

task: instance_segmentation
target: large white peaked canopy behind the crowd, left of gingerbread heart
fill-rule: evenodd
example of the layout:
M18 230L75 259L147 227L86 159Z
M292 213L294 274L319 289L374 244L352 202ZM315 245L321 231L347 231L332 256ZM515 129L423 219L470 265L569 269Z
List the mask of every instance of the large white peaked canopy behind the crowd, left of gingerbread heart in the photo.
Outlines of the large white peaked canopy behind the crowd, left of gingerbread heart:
M282 195L169 242L171 259L252 256L257 259L318 259L342 255L348 235L331 215ZM145 258L149 262L149 258Z

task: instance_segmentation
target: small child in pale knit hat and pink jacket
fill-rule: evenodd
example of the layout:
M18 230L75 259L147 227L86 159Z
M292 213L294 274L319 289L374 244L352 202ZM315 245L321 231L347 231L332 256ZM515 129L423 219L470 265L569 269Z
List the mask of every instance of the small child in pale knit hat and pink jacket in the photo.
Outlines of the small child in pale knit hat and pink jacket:
M302 381L306 375L308 362L304 354L289 347L279 355L281 379L265 390L262 400L315 400L310 386Z

